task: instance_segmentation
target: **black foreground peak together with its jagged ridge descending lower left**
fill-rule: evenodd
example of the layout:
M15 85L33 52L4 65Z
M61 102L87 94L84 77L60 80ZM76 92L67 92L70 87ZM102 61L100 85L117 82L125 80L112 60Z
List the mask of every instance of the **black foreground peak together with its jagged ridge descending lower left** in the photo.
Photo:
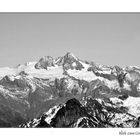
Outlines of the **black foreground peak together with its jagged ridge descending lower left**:
M55 111L54 111L55 112ZM53 114L52 114L53 115ZM55 127L55 128L64 128L64 127L72 127L76 121L83 116L87 116L85 108L81 105L81 103L72 98L66 102L55 114L55 116L51 119L50 124L48 124L45 119L47 115L43 115L39 118L39 123L35 127ZM29 123L30 126L33 124L33 121ZM21 125L20 127L27 127L26 125Z

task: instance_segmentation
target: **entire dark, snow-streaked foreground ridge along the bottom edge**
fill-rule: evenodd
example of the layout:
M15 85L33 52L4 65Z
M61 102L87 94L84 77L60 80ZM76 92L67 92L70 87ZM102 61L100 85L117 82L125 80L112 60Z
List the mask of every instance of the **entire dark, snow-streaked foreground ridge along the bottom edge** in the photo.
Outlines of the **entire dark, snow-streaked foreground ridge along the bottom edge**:
M55 112L55 111L54 111ZM117 115L121 115L123 120L117 122ZM106 128L106 127L139 127L140 119L129 115L122 108L114 107L111 103L106 104L98 99L86 98L80 103L72 98L66 102L48 123L47 115L20 127L54 127L54 128ZM121 118L120 118L121 119ZM34 124L34 125L32 125Z

